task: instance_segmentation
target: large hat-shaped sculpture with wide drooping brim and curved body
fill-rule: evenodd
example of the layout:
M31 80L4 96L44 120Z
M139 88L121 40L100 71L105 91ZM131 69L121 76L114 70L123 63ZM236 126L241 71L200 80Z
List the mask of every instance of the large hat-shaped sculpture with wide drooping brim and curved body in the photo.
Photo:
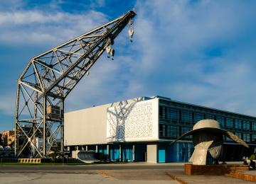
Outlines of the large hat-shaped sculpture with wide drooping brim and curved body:
M193 135L193 144L195 146L195 150L189 160L193 165L206 165L212 161L218 161L223 148L223 135L249 148L242 139L232 132L220 129L220 124L215 120L198 121L193 126L193 130L181 135L171 144L188 135Z

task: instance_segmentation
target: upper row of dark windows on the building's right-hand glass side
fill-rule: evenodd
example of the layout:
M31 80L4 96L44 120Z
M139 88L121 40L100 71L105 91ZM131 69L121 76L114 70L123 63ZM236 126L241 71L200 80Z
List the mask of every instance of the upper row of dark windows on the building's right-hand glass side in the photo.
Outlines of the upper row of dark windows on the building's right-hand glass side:
M166 120L181 121L185 123L196 123L204 119L217 120L221 127L235 128L237 130L256 131L256 122L247 120L237 120L229 117L210 115L204 113L192 112L190 110L178 110L176 108L159 107L159 118Z

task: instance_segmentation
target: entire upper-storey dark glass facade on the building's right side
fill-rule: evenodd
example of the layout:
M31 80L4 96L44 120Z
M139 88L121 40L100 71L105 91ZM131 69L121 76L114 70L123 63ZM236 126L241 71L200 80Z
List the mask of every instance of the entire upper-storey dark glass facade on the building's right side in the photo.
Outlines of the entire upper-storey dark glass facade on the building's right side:
M256 118L228 113L221 110L209 110L196 105L178 103L171 100L159 100L159 138L176 139L192 130L193 125L204 119L217 120L220 127L233 132L247 143L256 144ZM191 141L191 136L183 140ZM225 142L233 142L225 137Z

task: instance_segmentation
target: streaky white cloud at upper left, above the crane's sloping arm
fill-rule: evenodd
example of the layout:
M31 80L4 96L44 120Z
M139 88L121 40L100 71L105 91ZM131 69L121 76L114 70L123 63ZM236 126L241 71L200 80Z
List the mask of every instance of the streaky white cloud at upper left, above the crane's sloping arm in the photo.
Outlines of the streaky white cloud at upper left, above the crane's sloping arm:
M106 21L105 14L97 11L85 14L38 10L0 12L0 42L58 45Z

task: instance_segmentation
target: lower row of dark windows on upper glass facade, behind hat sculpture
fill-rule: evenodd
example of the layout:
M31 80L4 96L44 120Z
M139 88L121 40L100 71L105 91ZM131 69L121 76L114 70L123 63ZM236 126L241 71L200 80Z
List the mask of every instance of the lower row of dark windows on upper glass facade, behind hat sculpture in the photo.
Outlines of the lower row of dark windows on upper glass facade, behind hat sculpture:
M190 131L190 127L181 127L181 126L173 126L173 125L164 125L159 124L159 137L165 139L176 139L180 137L182 134ZM243 139L245 142L250 142L250 134L235 132L235 134ZM191 139L191 136L184 137L184 139ZM226 141L232 141L232 139L225 137ZM256 134L252 134L252 142L256 142Z

